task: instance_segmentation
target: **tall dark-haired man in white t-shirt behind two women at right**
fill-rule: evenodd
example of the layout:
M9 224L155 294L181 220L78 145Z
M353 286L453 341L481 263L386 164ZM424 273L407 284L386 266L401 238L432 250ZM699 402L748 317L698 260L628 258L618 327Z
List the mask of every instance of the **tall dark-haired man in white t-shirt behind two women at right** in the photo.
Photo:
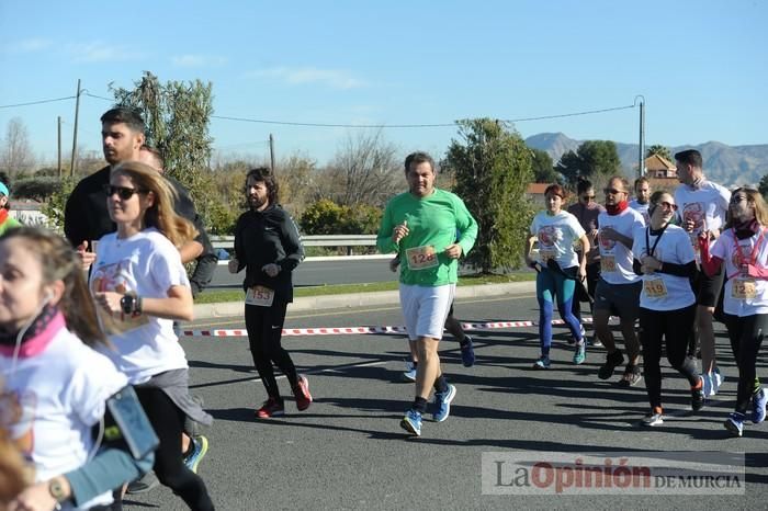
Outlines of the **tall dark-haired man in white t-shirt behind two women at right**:
M691 237L697 263L701 264L697 237L703 235L713 241L720 236L720 229L726 220L731 192L704 178L703 161L698 150L688 149L677 152L675 163L677 164L677 179L680 181L680 185L675 190L680 227L686 229ZM712 315L723 288L723 280L722 271L716 271L710 276L701 269L699 269L694 280L696 332L691 332L689 353L696 353L694 347L698 336L698 343L701 348L701 377L704 382L704 397L718 394L722 383L714 352Z

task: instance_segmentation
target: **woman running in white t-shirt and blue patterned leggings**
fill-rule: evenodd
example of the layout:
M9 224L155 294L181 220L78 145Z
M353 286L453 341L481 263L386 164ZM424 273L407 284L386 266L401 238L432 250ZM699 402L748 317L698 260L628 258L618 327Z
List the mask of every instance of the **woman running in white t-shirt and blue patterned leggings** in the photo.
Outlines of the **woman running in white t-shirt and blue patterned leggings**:
M526 262L535 268L537 299L539 300L539 338L541 356L533 363L533 368L550 367L550 347L552 345L552 316L554 300L561 318L576 339L574 364L585 360L584 328L573 314L576 279L587 275L585 253L589 252L589 239L574 215L562 209L565 190L560 184L550 184L544 192L546 211L533 217L531 237L526 243ZM532 258L533 240L539 240L539 254ZM583 250L574 251L574 241L580 241Z

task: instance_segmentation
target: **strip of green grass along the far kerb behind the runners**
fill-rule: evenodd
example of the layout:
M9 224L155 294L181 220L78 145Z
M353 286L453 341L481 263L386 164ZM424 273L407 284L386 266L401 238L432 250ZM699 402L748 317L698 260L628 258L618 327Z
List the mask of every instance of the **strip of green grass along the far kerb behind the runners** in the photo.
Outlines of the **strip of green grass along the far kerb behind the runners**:
M483 284L505 284L507 282L526 282L535 280L533 272L509 273L506 275L462 275L460 286L476 286ZM294 296L346 295L349 293L372 293L376 291L396 291L397 282L374 282L370 284L335 284L312 287L296 287ZM200 294L195 304L215 304L219 302L242 302L240 289L206 289Z

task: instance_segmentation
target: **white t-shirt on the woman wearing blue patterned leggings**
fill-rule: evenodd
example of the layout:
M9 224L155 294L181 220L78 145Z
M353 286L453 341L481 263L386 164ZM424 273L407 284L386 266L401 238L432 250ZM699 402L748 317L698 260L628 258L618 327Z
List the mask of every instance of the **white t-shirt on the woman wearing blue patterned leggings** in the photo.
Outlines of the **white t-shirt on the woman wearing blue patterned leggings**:
M547 259L554 259L562 269L578 265L574 241L585 231L574 215L562 209L554 216L540 212L533 217L531 234L539 240L538 260L543 266Z

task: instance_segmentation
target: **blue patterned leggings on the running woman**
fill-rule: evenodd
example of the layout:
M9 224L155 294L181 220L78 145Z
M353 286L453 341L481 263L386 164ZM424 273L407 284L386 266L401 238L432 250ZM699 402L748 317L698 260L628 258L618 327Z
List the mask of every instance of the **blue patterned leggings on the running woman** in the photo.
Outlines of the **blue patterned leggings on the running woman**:
M574 269L566 268L565 272ZM549 268L542 268L537 275L537 299L539 300L539 342L541 354L550 356L552 345L552 316L554 300L557 297L557 311L563 321L568 326L571 334L577 342L581 342L581 325L573 314L574 289L576 281L566 279L565 275L553 272Z

